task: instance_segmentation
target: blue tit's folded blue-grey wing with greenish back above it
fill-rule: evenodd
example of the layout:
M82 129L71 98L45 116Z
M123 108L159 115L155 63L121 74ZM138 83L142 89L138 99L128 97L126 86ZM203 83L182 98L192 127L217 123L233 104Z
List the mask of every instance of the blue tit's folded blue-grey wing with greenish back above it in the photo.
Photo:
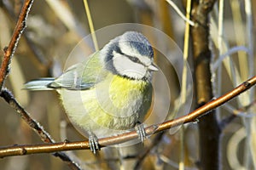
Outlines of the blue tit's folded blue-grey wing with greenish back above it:
M67 88L70 90L86 90L95 86L96 82L102 81L106 74L99 52L91 54L90 59L73 65L65 71L61 77L49 84L50 88Z

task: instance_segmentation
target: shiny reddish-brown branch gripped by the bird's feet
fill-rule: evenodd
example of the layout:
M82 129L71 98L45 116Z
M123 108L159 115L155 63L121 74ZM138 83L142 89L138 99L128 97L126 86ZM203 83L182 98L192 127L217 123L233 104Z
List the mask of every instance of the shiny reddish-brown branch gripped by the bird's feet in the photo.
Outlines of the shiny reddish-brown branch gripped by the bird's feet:
M202 105L200 108L192 111L187 116L181 116L172 121L163 122L158 125L152 125L150 127L146 127L145 131L147 135L151 135L153 133L159 133L166 129L177 127L182 125L183 123L195 122L201 116L206 115L209 111L216 109L218 106L223 105L228 102L230 99L235 98L239 94L247 91L247 89L252 88L256 84L256 77L253 77L246 82L243 82L240 86L233 89L227 94L219 97L218 99L213 99L208 102L206 105ZM120 144L124 143L131 139L137 139L137 132L132 131L130 133L123 133L113 137L99 139L99 144L101 147L105 147L107 145ZM88 141L79 141L79 142L61 142L55 144L26 144L26 145L14 145L9 147L0 148L0 158L6 156L23 156L29 154L38 154L38 153L52 153L56 151L64 151L64 150L88 150L90 149L90 144Z

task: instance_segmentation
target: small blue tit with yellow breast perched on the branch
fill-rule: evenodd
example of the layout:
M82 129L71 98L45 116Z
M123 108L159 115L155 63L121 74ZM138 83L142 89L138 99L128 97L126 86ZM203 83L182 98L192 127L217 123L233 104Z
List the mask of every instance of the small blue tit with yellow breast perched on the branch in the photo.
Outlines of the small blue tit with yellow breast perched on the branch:
M67 116L89 137L90 150L100 150L98 138L138 127L152 103L152 77L158 71L154 50L137 31L110 40L89 59L72 65L60 77L26 82L27 90L56 90Z

